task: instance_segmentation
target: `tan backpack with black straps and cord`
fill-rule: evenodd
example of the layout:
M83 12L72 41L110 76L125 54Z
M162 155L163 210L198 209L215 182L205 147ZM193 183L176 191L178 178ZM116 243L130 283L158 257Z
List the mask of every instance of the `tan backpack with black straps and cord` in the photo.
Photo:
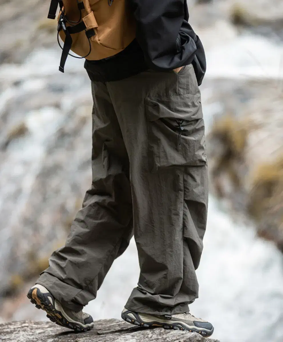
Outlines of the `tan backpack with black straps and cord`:
M101 60L124 50L136 36L127 0L51 0L48 18L55 19L58 5L58 43L62 48L59 70L70 50L76 58ZM59 36L64 41L62 47Z

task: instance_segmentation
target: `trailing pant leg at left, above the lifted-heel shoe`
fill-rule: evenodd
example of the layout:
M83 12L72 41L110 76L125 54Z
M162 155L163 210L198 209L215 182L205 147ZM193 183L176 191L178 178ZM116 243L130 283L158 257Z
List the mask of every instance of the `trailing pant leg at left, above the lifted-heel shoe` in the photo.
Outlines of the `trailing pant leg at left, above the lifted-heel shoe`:
M37 283L71 310L96 298L114 259L133 235L129 160L105 84L92 84L93 182L63 248L49 259ZM72 162L72 161L70 161Z

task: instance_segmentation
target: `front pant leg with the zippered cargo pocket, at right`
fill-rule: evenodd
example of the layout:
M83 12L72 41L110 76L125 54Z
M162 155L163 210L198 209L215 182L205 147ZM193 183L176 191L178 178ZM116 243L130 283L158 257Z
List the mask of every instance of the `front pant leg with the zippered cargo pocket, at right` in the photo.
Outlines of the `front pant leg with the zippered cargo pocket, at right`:
M126 308L188 311L207 220L204 120L192 65L107 83L130 159L140 277ZM181 136L180 136L181 134Z

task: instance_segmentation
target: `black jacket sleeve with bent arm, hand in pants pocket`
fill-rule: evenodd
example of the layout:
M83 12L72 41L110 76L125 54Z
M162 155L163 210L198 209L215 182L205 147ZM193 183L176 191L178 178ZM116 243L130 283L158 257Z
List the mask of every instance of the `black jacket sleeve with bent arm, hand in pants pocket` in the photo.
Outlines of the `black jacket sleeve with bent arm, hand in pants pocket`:
M172 70L192 63L198 37L188 24L186 0L129 0L136 39L152 69Z

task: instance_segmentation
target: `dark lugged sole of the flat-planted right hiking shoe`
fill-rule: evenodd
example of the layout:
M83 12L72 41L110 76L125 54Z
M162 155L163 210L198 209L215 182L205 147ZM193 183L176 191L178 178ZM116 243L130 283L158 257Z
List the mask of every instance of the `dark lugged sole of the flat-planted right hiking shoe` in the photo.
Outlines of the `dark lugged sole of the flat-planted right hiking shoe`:
M207 330L204 328L201 329L197 327L187 327L182 322L174 322L174 323L171 323L170 325L163 323L163 322L158 322L158 321L145 322L135 312L130 311L128 313L131 313L135 318L128 316L127 313L125 312L125 313L122 313L121 315L122 319L124 319L128 323L131 323L136 326L143 327L143 328L159 327L159 328L164 328L164 329L183 330L183 331L189 331L189 332L196 332L200 334L202 337L209 337L213 334L213 331L214 331L214 328L212 328L212 330Z

